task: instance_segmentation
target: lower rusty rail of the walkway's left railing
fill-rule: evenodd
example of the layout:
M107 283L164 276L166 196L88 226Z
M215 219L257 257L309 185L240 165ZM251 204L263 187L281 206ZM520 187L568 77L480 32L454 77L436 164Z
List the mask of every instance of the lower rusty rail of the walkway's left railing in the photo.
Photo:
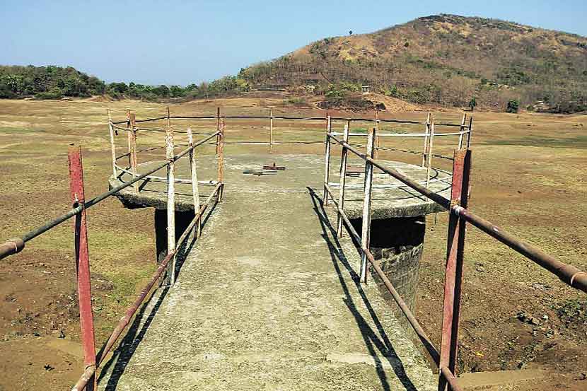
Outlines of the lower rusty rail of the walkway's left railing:
M180 245L182 245L184 240L187 238L187 235L189 235L190 231L194 228L197 221L199 221L199 219L202 218L204 211L206 211L206 209L209 207L211 199L214 198L214 196L216 196L216 194L218 194L219 189L222 186L223 186L222 183L219 183L218 185L216 185L216 187L214 188L214 191L209 195L206 202L204 202L202 207L199 209L198 213L194 216L192 223L190 223L190 226L187 226L187 228L184 230L184 232L180 236L180 239L178 240L178 243L177 243L177 247L180 247ZM134 303L132 303L132 305L127 309L126 313L124 313L124 317L122 317L120 322L118 322L118 324L116 325L116 327L114 328L114 330L110 334L110 337L108 337L107 342L102 346L102 349L100 349L100 351L98 351L98 354L96 354L96 366L95 367L89 366L88 368L86 368L86 370L84 370L83 374L81 375L78 382L76 383L76 385L74 385L74 388L72 388L71 391L81 391L81 390L83 390L84 387L86 387L88 380L92 377L92 375L95 374L97 368L100 368L100 364L103 363L107 354L110 352L110 350L112 350L112 347L117 342L117 339L120 337L120 335L122 334L124 329L126 329L126 327L129 325L130 321L132 320L132 317L134 316L136 311L139 309L139 307L141 306L141 304L143 303L145 298L149 295L149 292L151 291L153 286L156 284L158 279L161 277L161 274L163 274L163 271L165 270L165 268L169 264L170 260L173 259L173 257L175 257L175 252L173 252L173 251L169 252L169 254L165 257L165 259L163 259L161 264L159 264L156 271L153 273L151 280L149 280L149 283L146 284L146 286L143 288L143 290L139 294L139 297L136 298L136 300L134 300Z

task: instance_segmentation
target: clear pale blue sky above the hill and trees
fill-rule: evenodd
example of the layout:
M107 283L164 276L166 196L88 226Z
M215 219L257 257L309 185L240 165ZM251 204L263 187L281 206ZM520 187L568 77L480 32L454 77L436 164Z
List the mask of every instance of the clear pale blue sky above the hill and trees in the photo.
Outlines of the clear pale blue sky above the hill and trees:
M71 65L109 82L185 85L236 74L323 37L436 13L587 35L587 0L0 0L0 64Z

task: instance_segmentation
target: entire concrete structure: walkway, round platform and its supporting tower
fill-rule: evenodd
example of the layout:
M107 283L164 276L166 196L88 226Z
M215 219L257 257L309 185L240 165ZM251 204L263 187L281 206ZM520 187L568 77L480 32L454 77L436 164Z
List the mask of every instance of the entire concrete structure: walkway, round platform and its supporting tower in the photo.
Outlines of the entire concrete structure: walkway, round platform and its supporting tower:
M274 162L286 170L243 174ZM197 163L199 180L216 179L214 156ZM211 212L202 238L184 249L175 286L159 290L141 310L105 367L100 388L436 390L436 375L395 317L395 302L385 301L378 284L356 283L359 253L349 235L336 238L334 209L321 204L322 157L229 155L225 163L223 202ZM153 164L139 165L139 172ZM414 165L389 165L416 180L426 175ZM330 182L339 181L338 166L332 161ZM165 170L155 175L165 177ZM110 186L129 177L111 177ZM187 159L176 177L190 177ZM345 210L359 224L363 182L347 177ZM386 188L373 194L371 250L413 308L423 216L439 209L388 175L376 174L374 182ZM448 195L450 175L433 171L431 187ZM165 182L150 181L139 193L129 188L119 197L129 207L162 210L165 188ZM208 189L199 186L202 197ZM193 209L191 185L178 184L177 192L177 211Z

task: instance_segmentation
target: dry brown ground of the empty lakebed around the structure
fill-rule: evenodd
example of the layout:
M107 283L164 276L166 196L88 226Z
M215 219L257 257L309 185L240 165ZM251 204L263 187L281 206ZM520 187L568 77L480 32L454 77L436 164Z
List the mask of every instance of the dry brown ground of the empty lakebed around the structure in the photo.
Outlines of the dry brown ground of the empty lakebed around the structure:
M172 105L172 114L274 114L324 116L314 108L293 107L283 98L236 98ZM165 106L135 101L0 101L0 237L11 238L69 208L67 147L84 151L86 193L107 189L110 149L105 121L127 107L137 118L162 115ZM436 111L436 110L433 110ZM366 117L373 113L335 113ZM437 112L440 121L459 122L458 111ZM392 116L383 114L382 117ZM393 113L424 120L425 112ZM187 122L174 122L182 129ZM227 139L266 140L268 121L228 121ZM153 124L163 127L164 124ZM215 123L192 123L212 131ZM342 129L342 124L336 124ZM368 124L356 124L366 130ZM276 121L276 139L322 141L324 124ZM471 209L564 262L587 269L587 116L476 112L473 136ZM387 127L395 129L396 127ZM385 130L385 129L383 129ZM411 132L413 127L402 127ZM421 130L421 129L420 129ZM440 139L438 139L440 140ZM119 151L125 140L118 138ZM421 140L393 139L384 146L421 150ZM455 141L435 142L450 155ZM139 136L139 146L161 146L159 134ZM214 153L207 147L203 153ZM279 153L323 153L320 144L279 146ZM227 153L243 151L232 146ZM248 146L246 151L265 151ZM159 152L156 152L159 153ZM139 161L160 158L145 153ZM418 163L410 153L382 152L383 157ZM356 162L359 165L359 162ZM450 168L448 161L436 161ZM129 223L130 222L130 223ZM88 211L94 310L98 345L154 267L153 215L128 211L111 199ZM417 316L439 342L446 216L428 221ZM0 390L66 389L79 374L79 325L76 316L75 267L71 225L52 230L0 265ZM470 230L465 255L460 369L547 370L546 380L531 380L514 390L584 390L587 388L587 301L547 272ZM64 338L59 338L64 337ZM499 386L501 387L501 386ZM500 388L496 388L500 389ZM512 388L501 388L508 390Z

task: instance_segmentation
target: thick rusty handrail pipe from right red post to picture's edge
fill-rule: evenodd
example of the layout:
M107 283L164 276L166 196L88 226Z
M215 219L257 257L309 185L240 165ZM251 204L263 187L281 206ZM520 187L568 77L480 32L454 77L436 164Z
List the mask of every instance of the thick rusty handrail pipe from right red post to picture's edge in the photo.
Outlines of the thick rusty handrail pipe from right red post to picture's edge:
M468 209L456 205L453 206L451 210L454 214L460 216L460 218L463 218L484 233L487 233L487 235L496 238L501 243L504 243L504 245L519 252L524 257L531 259L552 274L556 274L565 284L587 293L586 272L583 272L570 264L565 264L551 255L548 255L546 252L533 247L533 245L525 243L523 240L505 232L498 226L484 220L484 218L477 216Z

